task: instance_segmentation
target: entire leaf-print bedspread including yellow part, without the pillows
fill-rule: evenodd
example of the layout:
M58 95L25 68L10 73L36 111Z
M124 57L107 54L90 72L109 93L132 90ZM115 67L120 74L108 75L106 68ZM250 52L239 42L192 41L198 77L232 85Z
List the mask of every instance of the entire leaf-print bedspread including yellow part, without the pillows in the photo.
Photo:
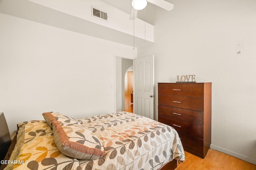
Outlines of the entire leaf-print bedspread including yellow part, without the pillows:
M62 154L46 121L18 124L17 144L5 170L158 170L184 161L178 133L170 126L128 112L78 119L101 141L106 156L78 160Z

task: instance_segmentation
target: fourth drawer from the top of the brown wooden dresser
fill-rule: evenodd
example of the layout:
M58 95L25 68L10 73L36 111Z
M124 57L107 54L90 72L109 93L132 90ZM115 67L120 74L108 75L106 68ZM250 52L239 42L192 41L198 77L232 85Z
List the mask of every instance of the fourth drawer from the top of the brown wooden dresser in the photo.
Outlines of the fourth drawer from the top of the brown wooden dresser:
M165 117L161 115L158 115L158 121L166 125L170 125L178 133L184 133L199 139L203 139L204 137L204 126L188 123L186 121L180 121L177 119L172 119L170 117Z

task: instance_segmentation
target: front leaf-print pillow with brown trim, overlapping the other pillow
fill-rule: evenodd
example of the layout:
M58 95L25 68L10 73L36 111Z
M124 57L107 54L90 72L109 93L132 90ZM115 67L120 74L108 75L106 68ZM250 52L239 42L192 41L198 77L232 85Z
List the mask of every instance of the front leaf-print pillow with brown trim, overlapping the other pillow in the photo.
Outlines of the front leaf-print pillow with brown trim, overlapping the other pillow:
M49 114L44 114L44 117L48 118L46 115L49 117ZM54 142L66 156L82 160L94 160L105 156L106 152L100 140L80 123L53 120L51 124Z

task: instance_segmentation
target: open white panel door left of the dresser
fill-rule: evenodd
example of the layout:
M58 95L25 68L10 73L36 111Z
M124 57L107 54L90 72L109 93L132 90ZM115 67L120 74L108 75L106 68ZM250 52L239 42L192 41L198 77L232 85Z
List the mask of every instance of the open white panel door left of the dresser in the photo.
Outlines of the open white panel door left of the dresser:
M154 56L134 61L134 113L154 119Z

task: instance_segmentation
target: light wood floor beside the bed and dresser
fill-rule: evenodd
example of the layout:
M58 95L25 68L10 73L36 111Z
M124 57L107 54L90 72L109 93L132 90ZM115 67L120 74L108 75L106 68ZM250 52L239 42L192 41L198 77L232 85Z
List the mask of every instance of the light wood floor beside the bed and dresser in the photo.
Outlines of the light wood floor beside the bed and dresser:
M204 159L185 151L185 161L175 170L256 170L256 165L209 149Z

